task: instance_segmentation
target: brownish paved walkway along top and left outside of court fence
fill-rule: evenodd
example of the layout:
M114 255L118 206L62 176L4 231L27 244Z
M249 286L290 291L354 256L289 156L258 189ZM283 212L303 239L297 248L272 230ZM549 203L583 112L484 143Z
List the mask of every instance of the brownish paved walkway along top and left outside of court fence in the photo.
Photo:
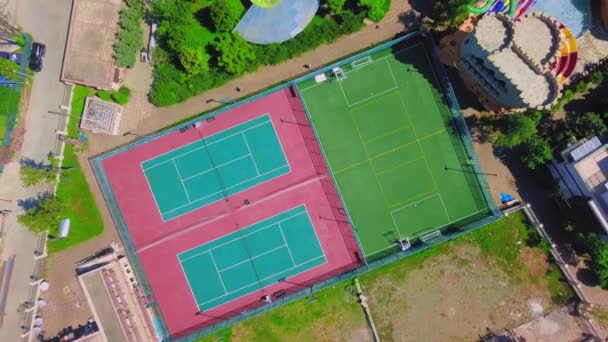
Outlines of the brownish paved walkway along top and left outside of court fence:
M191 98L187 102L166 108L156 108L148 103L146 96L149 80L151 79L151 69L147 64L138 63L134 69L129 71L125 79L125 83L133 91L133 98L123 114L121 131L136 134L154 132L169 124L217 106L217 103L206 103L208 99L247 96L260 89L307 72L308 70L304 68L306 63L312 64L313 67L321 66L341 56L365 49L374 43L390 39L404 31L405 26L402 24L400 16L407 10L409 10L408 0L392 0L391 10L378 29L375 28L375 25L370 25L360 32L342 37L333 44L321 46L297 59L276 66L262 67L257 72L247 74L224 87L210 90L203 95ZM237 93L235 90L237 86L243 88L244 92ZM52 300L49 300L47 312L50 315L48 315L45 324L46 330L50 334L55 334L64 326L82 323L90 316L90 310L74 276L74 262L113 241L120 242L88 158L127 143L133 139L133 136L107 136L102 134L88 134L88 136L90 147L86 155L79 156L80 163L97 200L105 229L101 236L58 253L49 259L47 273L49 283L53 286L48 294Z

